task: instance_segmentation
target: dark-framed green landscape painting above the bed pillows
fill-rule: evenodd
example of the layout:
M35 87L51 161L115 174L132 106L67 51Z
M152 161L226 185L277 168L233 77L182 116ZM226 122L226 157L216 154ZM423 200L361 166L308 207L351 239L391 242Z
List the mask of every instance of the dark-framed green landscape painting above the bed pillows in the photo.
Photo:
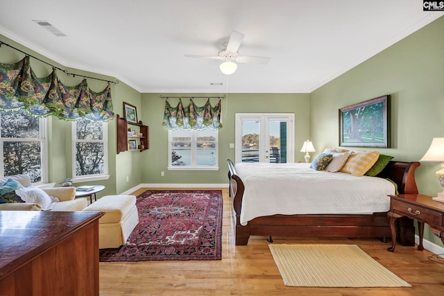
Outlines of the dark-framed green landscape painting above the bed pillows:
M339 109L339 146L390 147L390 96Z

